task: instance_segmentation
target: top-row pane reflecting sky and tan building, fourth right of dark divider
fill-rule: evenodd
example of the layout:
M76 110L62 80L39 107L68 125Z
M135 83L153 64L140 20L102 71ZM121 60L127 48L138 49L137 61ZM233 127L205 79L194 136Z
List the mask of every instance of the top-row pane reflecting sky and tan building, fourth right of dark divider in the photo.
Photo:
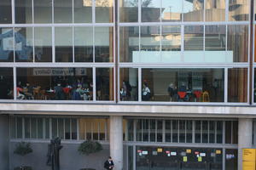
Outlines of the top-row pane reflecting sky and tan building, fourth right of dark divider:
M204 0L183 0L184 21L203 21Z

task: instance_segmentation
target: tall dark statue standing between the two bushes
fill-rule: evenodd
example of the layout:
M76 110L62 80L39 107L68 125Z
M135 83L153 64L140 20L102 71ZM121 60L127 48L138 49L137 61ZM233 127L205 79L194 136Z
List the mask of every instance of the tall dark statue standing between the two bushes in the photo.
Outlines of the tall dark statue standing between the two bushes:
M50 140L50 144L48 144L48 153L47 153L47 162L46 165L51 166L52 170L60 170L60 150L63 146L61 146L61 139L55 138Z

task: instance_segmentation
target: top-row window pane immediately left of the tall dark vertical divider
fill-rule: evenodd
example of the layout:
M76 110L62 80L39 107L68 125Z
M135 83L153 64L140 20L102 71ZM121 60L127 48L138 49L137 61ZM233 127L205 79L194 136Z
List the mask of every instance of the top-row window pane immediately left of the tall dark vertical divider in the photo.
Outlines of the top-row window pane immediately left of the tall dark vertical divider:
M113 22L113 0L95 0L96 22Z

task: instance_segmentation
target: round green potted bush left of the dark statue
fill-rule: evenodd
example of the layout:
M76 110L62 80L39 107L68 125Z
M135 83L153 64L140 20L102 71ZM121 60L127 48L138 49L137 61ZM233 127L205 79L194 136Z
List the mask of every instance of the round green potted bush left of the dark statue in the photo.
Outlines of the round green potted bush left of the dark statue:
M16 144L14 153L19 156L24 157L27 154L32 153L32 151L33 150L31 148L30 143L20 142L20 143ZM15 170L32 170L32 167L21 165L20 167L15 167Z

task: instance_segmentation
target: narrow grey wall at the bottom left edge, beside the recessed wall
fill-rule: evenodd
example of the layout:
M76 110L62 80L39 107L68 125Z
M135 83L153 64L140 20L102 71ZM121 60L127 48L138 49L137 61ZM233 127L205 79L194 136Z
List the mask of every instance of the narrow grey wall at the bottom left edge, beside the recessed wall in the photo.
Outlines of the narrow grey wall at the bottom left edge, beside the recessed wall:
M9 167L9 116L0 116L0 169Z

